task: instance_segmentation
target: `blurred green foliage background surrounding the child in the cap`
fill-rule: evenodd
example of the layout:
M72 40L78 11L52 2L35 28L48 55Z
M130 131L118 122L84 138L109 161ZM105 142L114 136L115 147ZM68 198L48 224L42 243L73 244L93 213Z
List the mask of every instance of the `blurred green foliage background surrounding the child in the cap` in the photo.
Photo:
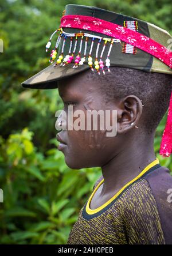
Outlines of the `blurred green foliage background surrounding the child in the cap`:
M171 0L0 0L1 244L65 244L101 175L100 168L71 170L57 150L55 112L62 109L58 91L21 87L22 81L49 66L45 45L69 3L140 18L172 34ZM172 170L171 157L158 154L166 118L167 113L154 148L161 164Z

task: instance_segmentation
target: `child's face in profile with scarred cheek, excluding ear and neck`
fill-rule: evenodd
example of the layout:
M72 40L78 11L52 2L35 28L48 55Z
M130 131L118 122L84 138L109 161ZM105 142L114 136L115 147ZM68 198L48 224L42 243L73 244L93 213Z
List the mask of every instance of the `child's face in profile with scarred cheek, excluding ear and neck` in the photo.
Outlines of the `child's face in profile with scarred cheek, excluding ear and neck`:
M93 122L91 129L87 130L87 111L117 110L115 102L106 102L99 90L99 84L96 81L87 81L84 72L59 81L58 93L64 103L63 112L66 116L58 116L57 122L67 123L67 129L61 130L57 135L57 140L63 142L58 149L64 153L65 163L73 169L103 166L118 153L120 140L116 136L107 137L107 130L100 129L99 115L97 130L93 128ZM69 106L73 108L73 112L84 113L85 130L69 129ZM78 118L79 116L73 116L73 125Z

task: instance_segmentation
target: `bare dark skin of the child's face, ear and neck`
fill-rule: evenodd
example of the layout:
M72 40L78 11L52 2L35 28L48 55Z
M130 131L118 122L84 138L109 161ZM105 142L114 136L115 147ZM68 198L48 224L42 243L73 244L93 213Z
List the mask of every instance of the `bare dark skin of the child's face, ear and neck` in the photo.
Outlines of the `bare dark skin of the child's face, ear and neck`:
M106 137L106 130L76 131L68 130L68 127L58 133L67 144L61 150L68 167L101 167L104 182L89 205L91 209L96 209L156 159L154 133L147 134L142 130L144 113L138 97L128 95L106 102L99 83L87 81L84 72L58 81L58 92L64 102L67 121L69 104L73 104L73 111L83 110L85 116L87 110L117 110L117 134L114 137ZM73 122L76 119L73 118ZM61 120L62 116L59 116L57 122Z

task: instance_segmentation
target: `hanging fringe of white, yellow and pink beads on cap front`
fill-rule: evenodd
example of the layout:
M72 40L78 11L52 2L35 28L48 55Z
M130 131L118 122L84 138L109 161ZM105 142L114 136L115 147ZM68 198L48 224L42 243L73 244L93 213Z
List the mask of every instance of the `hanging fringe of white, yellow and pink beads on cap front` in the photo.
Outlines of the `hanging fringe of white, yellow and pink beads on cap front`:
M50 63L53 63L55 61L56 57L57 57L57 48L60 45L62 37L64 37L64 40L62 42L61 53L58 56L58 59L57 59L56 63L54 64L54 66L57 66L57 65L65 66L65 65L68 65L68 63L71 63L73 58L74 58L74 55L76 53L78 37L81 37L79 52L75 57L75 65L73 65L73 69L79 67L80 65L83 65L83 63L85 62L85 60L87 58L86 57L86 52L87 52L87 48L88 48L87 44L88 44L88 39L90 37L91 38L91 47L89 49L89 54L88 54L88 59L87 59L89 67L91 68L92 71L94 71L93 67L95 67L95 70L97 71L97 73L99 75L100 75L100 70L103 72L103 74L105 74L104 66L106 66L108 72L110 72L110 54L111 54L112 46L113 46L114 43L121 43L121 41L119 39L105 38L105 37L100 37L100 36L91 35L89 33L82 33L82 32L80 32L80 33L66 33L62 30L62 28L58 28L50 36L49 42L46 44L46 51L48 51L48 49L50 48L52 37L58 31L60 31L60 34L58 35L56 46L51 51L50 59L49 59ZM64 47L65 47L65 42L67 40L67 37L70 37L69 52L68 52L68 55L66 55L64 57ZM96 42L97 43L96 57L95 57L94 66L93 66L93 58L92 58L91 54L92 54L93 44L95 43L96 39L98 39L98 42ZM99 46L100 46L101 40L104 40L104 44L103 44L103 49L101 50L101 53L100 53L100 58L98 59ZM107 46L108 42L109 42L109 46ZM73 52L71 53L71 49L72 49L73 44L74 44ZM81 56L82 47L84 47L84 55L83 56ZM108 48L108 54L107 54L107 57L105 58L105 64L104 64L104 62L103 62L103 52L105 50L105 47L109 47L109 48Z

